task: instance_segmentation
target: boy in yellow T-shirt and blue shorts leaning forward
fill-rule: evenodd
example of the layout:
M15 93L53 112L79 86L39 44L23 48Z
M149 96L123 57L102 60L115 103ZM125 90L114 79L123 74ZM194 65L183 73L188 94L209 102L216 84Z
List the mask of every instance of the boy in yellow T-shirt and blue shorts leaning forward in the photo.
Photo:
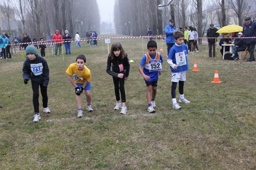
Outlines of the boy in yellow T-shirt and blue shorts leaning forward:
M76 104L78 105L78 118L83 116L83 109L81 107L81 93L85 89L85 96L87 100L87 111L92 112L92 105L90 104L92 96L90 95L90 70L85 66L86 58L83 54L76 57L76 63L72 63L66 70L69 75L69 81L74 86L74 93L76 93Z

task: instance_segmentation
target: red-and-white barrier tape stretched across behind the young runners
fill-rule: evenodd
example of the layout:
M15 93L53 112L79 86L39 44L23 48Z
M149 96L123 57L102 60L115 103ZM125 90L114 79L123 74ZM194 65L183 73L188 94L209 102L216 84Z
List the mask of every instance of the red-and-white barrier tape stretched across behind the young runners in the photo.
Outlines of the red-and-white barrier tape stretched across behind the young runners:
M158 35L158 36L100 36L98 38L81 38L80 42L88 42L88 41L94 41L94 40L107 40L107 39L135 39L135 38L161 38L162 40L164 40L166 38L165 35ZM223 38L223 37L198 37L200 39L210 39L210 38ZM228 37L228 38L238 38L238 37ZM248 39L248 38L256 38L256 36L252 36L252 37L241 37L244 39ZM55 39L56 41L60 40L60 39ZM67 39L65 39L65 41L62 40L62 42L47 42L47 40L45 41L38 41L38 42L28 42L28 43L11 43L8 45L49 45L49 44L55 44L55 43L71 43L71 42L76 42L76 40L74 39L70 39L69 41L67 41Z

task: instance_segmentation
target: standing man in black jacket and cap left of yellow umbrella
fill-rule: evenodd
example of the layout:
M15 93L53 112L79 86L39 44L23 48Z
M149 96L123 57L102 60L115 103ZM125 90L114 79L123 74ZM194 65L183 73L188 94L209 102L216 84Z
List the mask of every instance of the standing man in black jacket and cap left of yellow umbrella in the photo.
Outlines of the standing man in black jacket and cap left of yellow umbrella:
M216 33L218 29L214 27L214 24L210 24L210 28L207 30L207 41L208 41L208 47L209 47L209 58L215 57L216 54L216 42L217 37L219 36L219 33Z

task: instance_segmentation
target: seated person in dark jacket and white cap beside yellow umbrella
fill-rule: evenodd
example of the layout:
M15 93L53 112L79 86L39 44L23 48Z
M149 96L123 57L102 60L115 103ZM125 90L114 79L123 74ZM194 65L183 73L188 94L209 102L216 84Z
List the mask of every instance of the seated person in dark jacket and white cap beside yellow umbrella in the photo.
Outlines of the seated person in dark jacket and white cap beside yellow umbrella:
M238 38L235 38L234 42L232 42L232 44L234 44L234 52L232 54L232 58L234 58L234 60L237 60L237 52L239 51L244 51L246 49L246 43L244 41L244 38L241 38L241 36L243 36L243 33L239 32L237 33Z

